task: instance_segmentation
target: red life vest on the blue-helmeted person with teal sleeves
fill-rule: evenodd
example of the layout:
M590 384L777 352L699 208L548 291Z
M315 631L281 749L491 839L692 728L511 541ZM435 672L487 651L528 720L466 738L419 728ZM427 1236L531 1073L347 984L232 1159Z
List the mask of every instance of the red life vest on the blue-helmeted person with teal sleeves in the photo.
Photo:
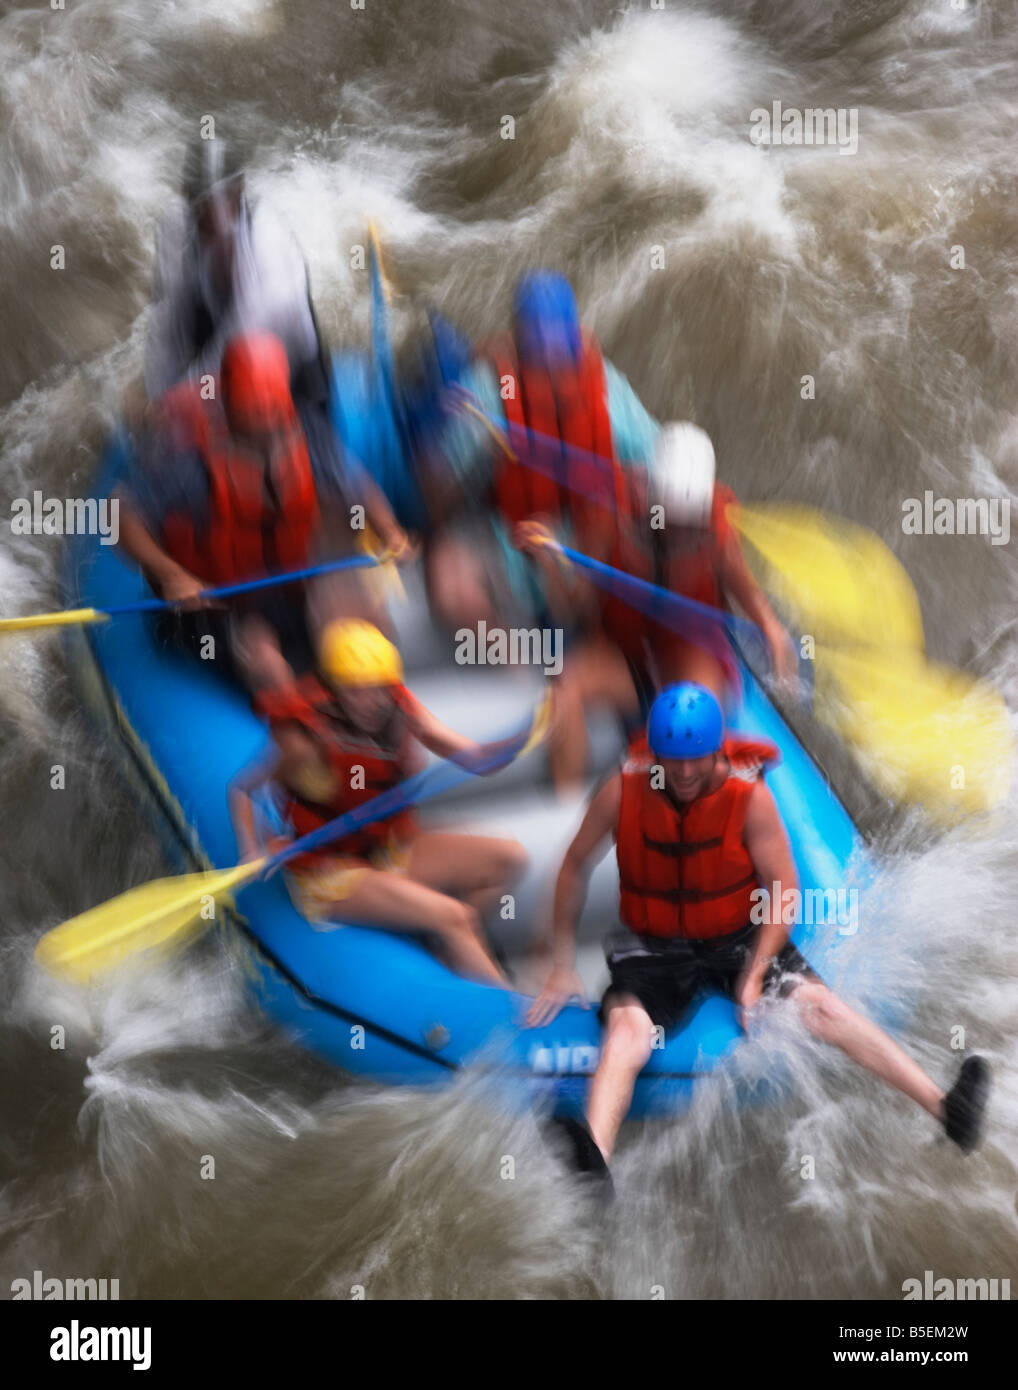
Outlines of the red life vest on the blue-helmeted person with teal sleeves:
M495 474L495 505L508 525L534 516L577 528L604 524L623 502L622 468L615 457L608 414L608 382L601 349L584 335L580 363L554 375L522 366L512 338L490 349L516 459L502 455ZM562 446L569 445L577 453Z

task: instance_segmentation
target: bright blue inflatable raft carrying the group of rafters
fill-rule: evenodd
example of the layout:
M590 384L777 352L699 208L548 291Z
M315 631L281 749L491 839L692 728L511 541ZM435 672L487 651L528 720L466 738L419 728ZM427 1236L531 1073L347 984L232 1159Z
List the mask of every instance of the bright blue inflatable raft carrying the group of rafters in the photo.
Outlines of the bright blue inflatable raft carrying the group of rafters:
M110 495L122 450L114 443L107 453L96 496ZM114 549L88 537L71 542L68 605L106 609L145 596L146 582ZM79 630L72 642L81 688L143 784L178 865L236 863L227 787L267 745L267 730L245 696L202 663L161 648L143 616ZM407 680L413 688L413 671ZM768 781L801 887L839 888L861 848L858 833L748 667L743 681L736 726L782 749L782 764ZM496 724L488 728L499 731ZM496 796L498 777L485 790ZM108 888L113 895L124 884ZM496 1069L524 1101L554 1091L569 1102L579 1101L597 1065L594 1009L567 1008L547 1027L526 1029L522 995L456 977L413 938L356 926L313 930L280 876L241 892L225 930L238 933L248 949L246 977L257 1004L345 1072L428 1084L477 1063ZM837 931L801 927L793 935L825 973ZM654 1052L633 1113L680 1109L694 1079L718 1066L738 1037L733 1006L718 997L701 999L686 1026Z

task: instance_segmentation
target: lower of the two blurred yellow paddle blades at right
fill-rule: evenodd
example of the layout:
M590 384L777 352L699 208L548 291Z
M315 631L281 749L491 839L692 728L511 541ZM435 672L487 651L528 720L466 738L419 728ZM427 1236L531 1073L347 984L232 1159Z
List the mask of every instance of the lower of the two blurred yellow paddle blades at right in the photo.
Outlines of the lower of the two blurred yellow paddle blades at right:
M1014 734L997 691L919 652L816 653L816 713L896 801L944 821L1000 805Z

